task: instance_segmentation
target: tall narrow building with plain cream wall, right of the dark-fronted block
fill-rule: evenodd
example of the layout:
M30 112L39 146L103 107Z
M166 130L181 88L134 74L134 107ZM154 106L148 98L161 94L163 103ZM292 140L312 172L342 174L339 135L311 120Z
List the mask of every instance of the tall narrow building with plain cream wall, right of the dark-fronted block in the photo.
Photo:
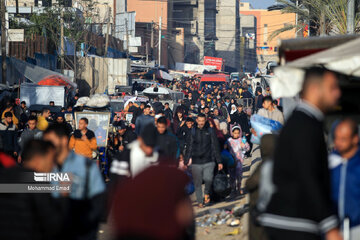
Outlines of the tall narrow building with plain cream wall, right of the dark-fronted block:
M240 17L238 0L219 0L216 16L216 56L225 61L226 72L240 70Z

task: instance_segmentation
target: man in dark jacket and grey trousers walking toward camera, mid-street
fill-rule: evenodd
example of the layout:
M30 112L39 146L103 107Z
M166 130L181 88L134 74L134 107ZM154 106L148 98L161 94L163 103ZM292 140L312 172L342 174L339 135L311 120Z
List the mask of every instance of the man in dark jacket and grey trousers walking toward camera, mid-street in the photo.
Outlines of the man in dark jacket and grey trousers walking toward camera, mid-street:
M215 166L222 170L219 142L215 132L205 126L206 117L199 114L197 127L192 130L186 140L185 165L191 165L194 178L196 200L199 207L210 203L210 190ZM205 182L205 198L203 200L202 182Z

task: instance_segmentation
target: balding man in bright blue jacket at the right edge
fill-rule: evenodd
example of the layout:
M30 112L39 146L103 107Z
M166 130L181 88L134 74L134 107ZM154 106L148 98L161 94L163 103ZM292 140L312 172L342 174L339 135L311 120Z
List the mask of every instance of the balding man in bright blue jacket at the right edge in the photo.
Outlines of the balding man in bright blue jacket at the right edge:
M335 152L329 157L331 198L341 222L350 220L351 237L360 235L360 149L356 122L343 120L335 129Z

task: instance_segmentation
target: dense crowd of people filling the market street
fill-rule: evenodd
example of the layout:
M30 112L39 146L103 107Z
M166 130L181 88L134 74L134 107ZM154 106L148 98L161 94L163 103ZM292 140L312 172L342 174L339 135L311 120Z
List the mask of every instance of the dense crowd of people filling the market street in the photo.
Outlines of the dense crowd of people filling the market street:
M49 108L36 114L25 102L6 101L0 183L21 179L23 172L70 173L71 191L1 194L0 208L7 210L0 211L0 239L96 239L109 214L117 239L194 239L188 197L193 191L185 189L193 184L197 206L209 206L225 197L213 191L215 175L225 173L230 198L244 194L243 163L252 156L252 137L258 135L251 126L253 114L284 125L270 149L261 146L272 177L261 175L265 187L260 188L249 180L250 192L260 189L261 204L252 209L264 227L257 231L266 232L261 239L335 240L341 239L338 220L350 218L354 230L360 225L359 191L352 185L358 182L359 136L351 119L334 128L336 151L328 169L322 123L340 97L334 73L307 71L302 101L286 123L270 89L257 84L253 90L247 79L201 85L194 78L165 85L185 98L176 104L158 97L140 105L129 102L131 122L114 117L107 173L91 160L98 146L88 119L81 118L77 129L65 121L72 105L58 114Z

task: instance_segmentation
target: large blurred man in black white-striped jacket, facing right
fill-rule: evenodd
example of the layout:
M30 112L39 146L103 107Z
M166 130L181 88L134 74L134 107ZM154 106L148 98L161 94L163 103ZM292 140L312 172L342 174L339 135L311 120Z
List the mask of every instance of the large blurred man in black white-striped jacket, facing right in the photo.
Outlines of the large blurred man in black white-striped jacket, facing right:
M280 133L274 155L274 189L259 220L270 240L339 240L330 198L330 176L324 140L324 114L340 98L337 76L308 69L302 102Z

